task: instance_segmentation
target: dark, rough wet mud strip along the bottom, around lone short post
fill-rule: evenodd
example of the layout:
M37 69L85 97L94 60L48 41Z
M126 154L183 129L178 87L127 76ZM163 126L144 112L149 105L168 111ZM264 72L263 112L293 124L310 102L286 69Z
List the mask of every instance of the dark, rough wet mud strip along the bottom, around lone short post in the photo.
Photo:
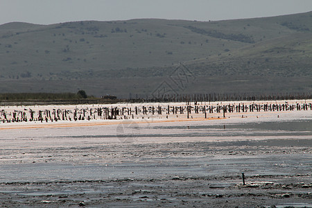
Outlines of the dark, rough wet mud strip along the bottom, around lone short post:
M171 177L1 184L1 206L28 207L311 207L308 175Z

